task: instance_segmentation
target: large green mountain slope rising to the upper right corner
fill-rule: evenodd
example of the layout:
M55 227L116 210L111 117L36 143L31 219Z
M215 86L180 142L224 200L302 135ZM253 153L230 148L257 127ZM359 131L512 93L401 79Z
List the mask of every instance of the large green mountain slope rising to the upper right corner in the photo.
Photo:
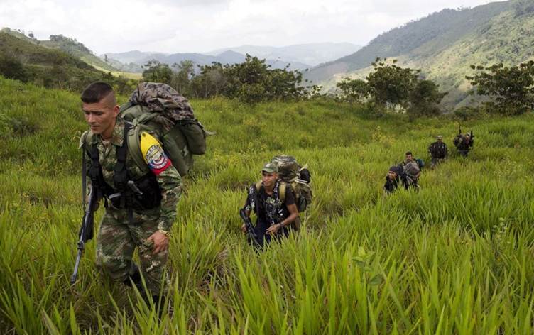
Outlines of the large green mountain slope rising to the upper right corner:
M448 91L448 106L467 103L469 65L503 62L517 65L534 59L532 0L502 1L473 9L444 9L395 28L361 50L305 72L305 78L332 88L342 77L364 77L376 57L420 68Z

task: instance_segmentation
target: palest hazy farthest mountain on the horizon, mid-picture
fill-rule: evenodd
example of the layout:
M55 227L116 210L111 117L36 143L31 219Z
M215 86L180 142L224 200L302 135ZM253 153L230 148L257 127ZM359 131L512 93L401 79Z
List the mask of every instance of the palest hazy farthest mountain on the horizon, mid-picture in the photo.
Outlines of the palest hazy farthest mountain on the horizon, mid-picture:
M214 50L208 54L218 55L224 51L232 50L236 53L248 53L269 60L282 59L286 62L298 62L315 66L323 62L336 60L339 57L350 55L360 48L361 46L352 43L310 43L288 45L285 47L241 45L234 48Z

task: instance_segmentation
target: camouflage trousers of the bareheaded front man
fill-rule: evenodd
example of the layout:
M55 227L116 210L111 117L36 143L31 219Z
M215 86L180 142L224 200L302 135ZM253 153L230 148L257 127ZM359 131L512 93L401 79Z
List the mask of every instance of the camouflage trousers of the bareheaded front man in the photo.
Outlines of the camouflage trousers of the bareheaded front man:
M141 273L151 295L159 295L168 286L165 264L168 250L153 255L147 238L158 230L159 209L143 214L133 213L130 223L124 209L106 209L97 237L97 268L116 282L129 279L136 269L133 251L138 248ZM165 275L165 278L163 277Z

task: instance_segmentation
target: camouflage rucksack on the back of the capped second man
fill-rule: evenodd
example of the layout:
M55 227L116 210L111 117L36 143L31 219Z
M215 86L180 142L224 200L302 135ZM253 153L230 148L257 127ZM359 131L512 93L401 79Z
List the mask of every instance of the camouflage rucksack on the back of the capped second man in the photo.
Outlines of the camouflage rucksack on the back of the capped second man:
M271 163L278 166L280 180L293 187L298 212L304 212L312 203L313 197L307 165L300 166L290 155L276 155L271 159Z

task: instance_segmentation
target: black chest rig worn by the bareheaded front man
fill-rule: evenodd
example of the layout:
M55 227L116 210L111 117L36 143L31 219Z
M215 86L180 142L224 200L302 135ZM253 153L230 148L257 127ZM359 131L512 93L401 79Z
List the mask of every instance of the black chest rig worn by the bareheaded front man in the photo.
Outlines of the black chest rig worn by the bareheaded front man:
M161 192L158 181L156 180L156 175L149 171L146 175L143 175L143 177L138 178L137 180L132 180L126 169L126 154L128 153L127 137L131 128L131 123L124 123L124 138L122 145L119 148L116 148L116 163L113 175L114 187L111 187L104 180L97 143L93 143L89 148L91 165L87 172L93 187L97 190L98 197L104 198L105 207L108 207L108 202L111 202L111 206L116 209L128 209L130 221L132 221L134 210L136 212L142 212L144 209L156 208L161 203ZM85 143L84 150L86 150ZM85 168L85 162L83 167ZM85 175L85 173L83 175Z

